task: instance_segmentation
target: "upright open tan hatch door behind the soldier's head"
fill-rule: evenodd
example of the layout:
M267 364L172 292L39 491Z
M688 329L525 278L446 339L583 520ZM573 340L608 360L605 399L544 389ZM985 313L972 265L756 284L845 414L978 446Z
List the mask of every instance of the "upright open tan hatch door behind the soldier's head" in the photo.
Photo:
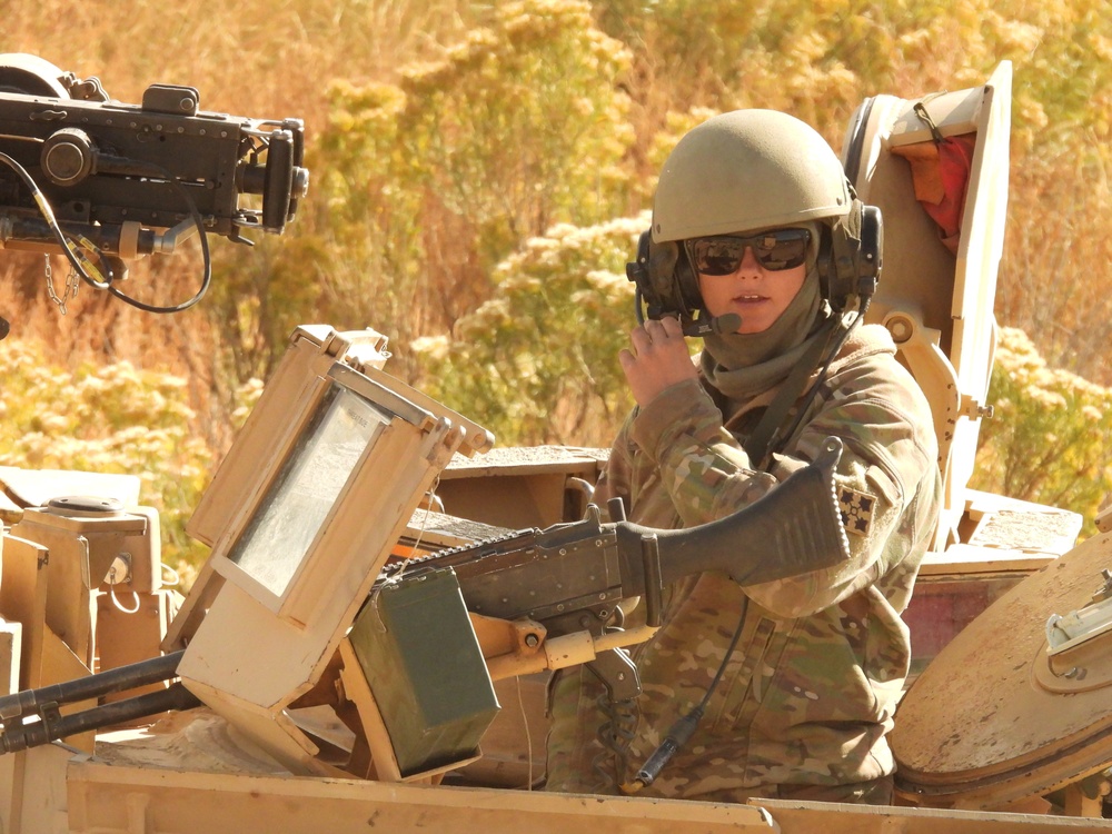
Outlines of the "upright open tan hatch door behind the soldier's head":
M926 394L939 436L945 502L936 549L965 507L995 346L993 299L1007 207L1012 70L986 83L905 100L877 96L858 109L843 161L858 197L884 218L884 274L867 319L885 325ZM916 111L916 108L920 108ZM943 137L975 140L960 241L952 252L916 198L911 167L894 148Z

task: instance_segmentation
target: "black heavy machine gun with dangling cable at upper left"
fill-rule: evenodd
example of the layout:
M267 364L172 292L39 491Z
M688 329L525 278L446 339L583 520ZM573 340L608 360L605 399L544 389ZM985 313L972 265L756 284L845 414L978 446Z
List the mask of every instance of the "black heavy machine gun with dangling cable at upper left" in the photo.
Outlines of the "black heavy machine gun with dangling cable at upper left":
M62 254L82 280L141 309L196 304L208 287L207 232L250 245L244 230L280 235L308 190L299 119L199 109L192 87L152 85L141 105L110 100L28 54L0 54L0 248ZM240 205L261 196L261 208ZM200 290L153 307L115 281L127 260L169 255L198 234Z

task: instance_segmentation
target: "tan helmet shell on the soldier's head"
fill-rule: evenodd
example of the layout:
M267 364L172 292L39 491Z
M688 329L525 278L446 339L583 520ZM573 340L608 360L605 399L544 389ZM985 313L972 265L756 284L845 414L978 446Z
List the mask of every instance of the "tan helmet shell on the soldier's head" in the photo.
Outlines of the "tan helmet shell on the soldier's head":
M684 136L656 189L653 240L685 240L844 218L853 202L837 156L774 110L722 113Z

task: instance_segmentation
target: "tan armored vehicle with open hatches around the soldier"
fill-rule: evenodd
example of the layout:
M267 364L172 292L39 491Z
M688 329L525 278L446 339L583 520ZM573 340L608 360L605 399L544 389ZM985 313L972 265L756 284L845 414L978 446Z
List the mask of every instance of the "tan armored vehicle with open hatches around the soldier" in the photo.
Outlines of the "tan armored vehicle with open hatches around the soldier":
M211 552L185 597L133 479L0 470L2 830L1112 830L1112 538L1074 547L1075 514L969 488L991 409L1010 83L1002 64L972 89L870 99L843 150L884 218L868 317L927 394L945 477L906 614L917 679L896 716L895 805L537 790L547 675L597 663L626 685L623 649L652 634L662 584L837 557L836 443L764 499L791 514L604 523L605 450L497 448L391 377L379 332L312 325L189 522ZM261 222L288 215L279 202ZM608 627L633 595L646 625Z

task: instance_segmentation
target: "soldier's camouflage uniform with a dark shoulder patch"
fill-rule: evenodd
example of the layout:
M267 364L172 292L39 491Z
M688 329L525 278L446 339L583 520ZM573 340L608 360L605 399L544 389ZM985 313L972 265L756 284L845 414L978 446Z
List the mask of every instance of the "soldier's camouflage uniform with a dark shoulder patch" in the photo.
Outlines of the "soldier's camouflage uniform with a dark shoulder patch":
M900 612L940 506L930 407L895 360L887 331L860 327L764 473L751 468L739 440L775 389L716 406L707 387L681 383L634 410L612 449L598 503L620 496L632 520L656 527L703 524L766 494L833 435L845 445L836 479L851 558L745 588L711 573L666 588L663 627L633 649L644 693L633 706L636 726L622 745L626 767L617 782L632 780L674 722L699 703L744 617L698 729L643 793L868 801L861 794L894 770L885 733L911 654ZM582 668L557 678L549 790L616 792L593 767L604 751L596 734L605 721L596 703L602 693Z

